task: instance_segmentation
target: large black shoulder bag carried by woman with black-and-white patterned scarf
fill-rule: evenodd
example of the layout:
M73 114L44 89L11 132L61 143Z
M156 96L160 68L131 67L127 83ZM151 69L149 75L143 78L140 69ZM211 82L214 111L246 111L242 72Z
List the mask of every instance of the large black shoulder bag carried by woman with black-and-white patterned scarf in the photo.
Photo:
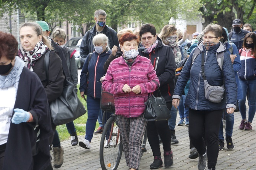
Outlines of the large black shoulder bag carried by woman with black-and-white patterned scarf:
M47 81L49 81L49 55L50 51L45 54L44 58ZM74 91L74 86L65 78L61 96L49 103L52 122L55 125L69 123L86 113L85 107Z

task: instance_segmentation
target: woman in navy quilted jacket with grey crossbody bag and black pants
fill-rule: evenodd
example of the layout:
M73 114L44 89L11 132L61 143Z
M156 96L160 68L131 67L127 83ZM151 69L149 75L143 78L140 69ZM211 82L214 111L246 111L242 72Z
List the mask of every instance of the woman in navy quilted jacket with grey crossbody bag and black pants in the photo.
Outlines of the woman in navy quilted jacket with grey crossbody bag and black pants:
M217 24L209 24L204 29L203 34L203 41L199 42L198 47L196 47L201 53L194 59L193 64L192 56L196 48L190 54L176 83L172 103L177 108L180 96L188 79L190 79L190 87L185 103L190 108L188 133L191 142L199 153L198 169L205 170L208 164L208 169L215 170L219 154L218 133L220 122L222 121L222 113L224 109L227 109L228 114L234 112L237 101L237 84L229 54L227 52L223 53L222 71L217 62L216 53L225 51L224 44L219 42L222 36L222 27ZM212 103L205 98L204 80L201 70L202 55L204 55L205 75L209 84L221 86L225 82L226 93L220 103ZM203 134L206 135L207 149L203 140Z

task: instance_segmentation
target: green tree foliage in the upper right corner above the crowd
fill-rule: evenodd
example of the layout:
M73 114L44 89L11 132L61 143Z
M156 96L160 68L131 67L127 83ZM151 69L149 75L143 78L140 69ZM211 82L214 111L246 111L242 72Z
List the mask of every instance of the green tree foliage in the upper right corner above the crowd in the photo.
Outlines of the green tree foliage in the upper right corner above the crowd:
M255 23L256 0L201 0L201 3L204 27L216 23L231 30L235 18L241 19L243 23Z

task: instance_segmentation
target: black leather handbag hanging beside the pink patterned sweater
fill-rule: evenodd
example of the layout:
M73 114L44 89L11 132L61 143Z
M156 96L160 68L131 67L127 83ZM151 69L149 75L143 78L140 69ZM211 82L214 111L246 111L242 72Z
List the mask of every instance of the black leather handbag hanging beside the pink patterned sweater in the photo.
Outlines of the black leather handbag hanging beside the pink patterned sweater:
M149 96L145 102L146 108L144 111L144 119L146 121L160 121L171 118L171 113L166 106L166 101L163 98L159 87L157 88L160 93L160 97L155 97L153 94L151 94L151 96Z

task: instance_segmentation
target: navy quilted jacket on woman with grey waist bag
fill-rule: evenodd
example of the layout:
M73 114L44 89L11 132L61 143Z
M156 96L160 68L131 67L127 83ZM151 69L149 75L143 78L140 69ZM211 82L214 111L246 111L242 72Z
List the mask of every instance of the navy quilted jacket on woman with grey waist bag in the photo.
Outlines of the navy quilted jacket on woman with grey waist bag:
M213 86L221 86L223 85L226 89L226 93L224 95L224 99L220 103L212 103L207 100L204 96L204 80L202 76L201 70L201 54L200 53L197 58L192 63L192 55L194 50L191 52L190 57L185 63L181 74L176 83L176 87L173 93L173 98L180 99L182 92L186 86L188 79L190 79L190 87L188 90L188 95L186 96L185 105L194 110L216 110L216 109L224 109L225 107L236 108L237 104L237 83L235 81L234 71L230 56L227 52L224 53L224 62L222 71L217 62L217 51L225 51L225 46L223 43L219 43L218 45L212 46L208 51L203 46L202 42L198 43L198 48L205 53L205 74L206 79L208 80L210 85ZM223 75L222 75L223 74ZM226 106L227 105L227 106Z

